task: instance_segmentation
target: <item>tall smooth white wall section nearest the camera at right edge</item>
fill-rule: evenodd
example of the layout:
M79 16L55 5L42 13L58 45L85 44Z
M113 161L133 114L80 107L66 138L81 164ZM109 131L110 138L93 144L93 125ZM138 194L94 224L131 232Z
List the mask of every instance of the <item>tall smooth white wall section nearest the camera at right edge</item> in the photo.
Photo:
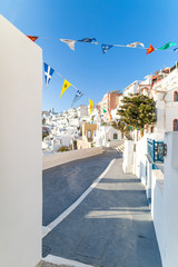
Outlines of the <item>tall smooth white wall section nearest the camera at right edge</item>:
M178 132L165 135L164 267L178 266Z

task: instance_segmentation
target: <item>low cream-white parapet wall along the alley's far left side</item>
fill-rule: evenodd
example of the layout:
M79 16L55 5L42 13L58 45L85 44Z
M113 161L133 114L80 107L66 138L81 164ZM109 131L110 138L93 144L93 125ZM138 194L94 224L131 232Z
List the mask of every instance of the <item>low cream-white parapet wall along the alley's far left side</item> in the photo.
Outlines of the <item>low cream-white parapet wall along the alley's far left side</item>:
M100 154L102 154L102 147L86 148L50 155L43 157L42 169L49 169L58 165L70 162L72 160L83 159Z

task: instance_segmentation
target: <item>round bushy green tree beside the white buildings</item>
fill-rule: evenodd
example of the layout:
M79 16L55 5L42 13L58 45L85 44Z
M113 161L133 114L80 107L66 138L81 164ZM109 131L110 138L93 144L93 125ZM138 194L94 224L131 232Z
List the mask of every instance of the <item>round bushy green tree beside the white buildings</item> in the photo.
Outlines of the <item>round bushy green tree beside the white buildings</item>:
M121 131L137 129L141 131L141 136L145 126L151 125L156 120L154 99L144 95L123 97L122 105L117 113L120 115L118 128Z

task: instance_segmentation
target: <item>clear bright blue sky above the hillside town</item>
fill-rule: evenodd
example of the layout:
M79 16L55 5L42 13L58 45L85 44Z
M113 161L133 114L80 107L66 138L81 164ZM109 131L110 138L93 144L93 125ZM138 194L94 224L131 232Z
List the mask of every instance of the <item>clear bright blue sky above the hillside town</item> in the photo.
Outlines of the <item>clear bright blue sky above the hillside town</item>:
M178 47L178 1L147 0L1 0L0 12L24 34L82 39L93 37L100 43L127 44L134 41L158 48L174 41ZM85 96L76 103L95 103L109 90L123 90L146 75L175 65L178 52L112 48L76 43L72 51L57 39L38 39L43 61L73 83ZM42 89L43 110L70 108L76 89L70 87L60 99L63 80L53 75Z

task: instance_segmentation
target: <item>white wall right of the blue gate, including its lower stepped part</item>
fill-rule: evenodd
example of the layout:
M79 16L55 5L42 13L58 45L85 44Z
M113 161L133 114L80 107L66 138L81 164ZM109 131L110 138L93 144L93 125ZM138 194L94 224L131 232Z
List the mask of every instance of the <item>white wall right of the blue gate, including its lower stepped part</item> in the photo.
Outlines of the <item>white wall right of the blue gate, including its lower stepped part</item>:
M162 267L178 263L178 132L166 132L164 182L152 175L151 214L159 244ZM156 172L155 172L156 174Z

